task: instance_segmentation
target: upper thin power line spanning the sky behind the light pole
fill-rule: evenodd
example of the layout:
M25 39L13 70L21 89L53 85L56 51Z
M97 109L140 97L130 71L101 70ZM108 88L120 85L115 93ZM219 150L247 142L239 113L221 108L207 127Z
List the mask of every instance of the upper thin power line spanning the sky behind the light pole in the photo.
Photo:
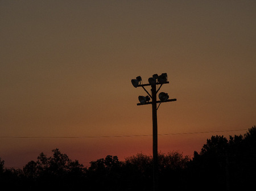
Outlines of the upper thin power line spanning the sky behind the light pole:
M220 130L220 131L199 131L199 132L187 132L187 133L163 133L158 134L159 136L163 135L185 135L185 134L203 134L203 133L222 133L230 131L243 131L247 129L232 129L232 130ZM114 138L114 137L148 137L152 134L139 134L139 135L109 135L109 136L79 136L79 137L18 137L18 136L0 136L0 138L31 138L31 139L56 139L56 138Z

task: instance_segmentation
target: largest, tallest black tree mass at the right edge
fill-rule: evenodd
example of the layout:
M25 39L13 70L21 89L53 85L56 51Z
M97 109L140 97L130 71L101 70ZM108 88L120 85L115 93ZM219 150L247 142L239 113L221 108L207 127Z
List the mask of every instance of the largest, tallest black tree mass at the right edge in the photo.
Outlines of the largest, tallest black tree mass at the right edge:
M245 135L212 136L194 152L189 164L189 184L204 190L249 190L256 184L256 127ZM197 186L201 185L200 188Z

